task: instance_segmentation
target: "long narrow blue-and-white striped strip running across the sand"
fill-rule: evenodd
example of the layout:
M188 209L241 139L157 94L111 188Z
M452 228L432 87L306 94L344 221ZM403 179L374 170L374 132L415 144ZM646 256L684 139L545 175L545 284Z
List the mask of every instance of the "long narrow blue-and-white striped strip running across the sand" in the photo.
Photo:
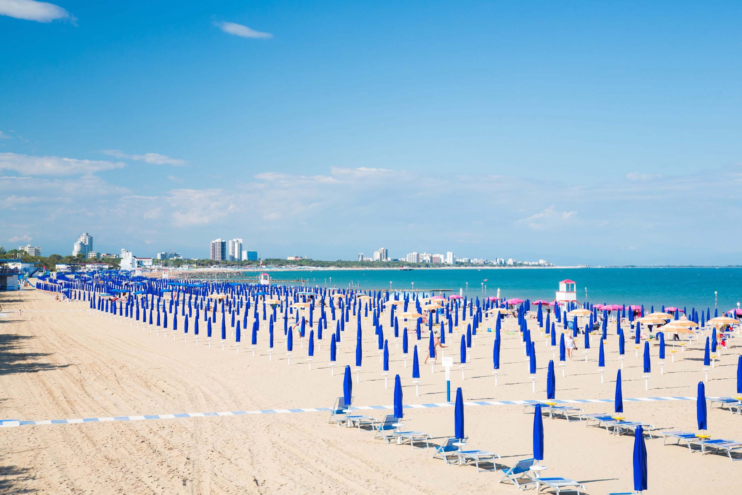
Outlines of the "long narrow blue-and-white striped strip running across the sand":
M623 399L624 401L695 401L695 397L637 397ZM464 401L466 406L512 406L533 404L538 401ZM588 404L612 403L613 399L556 399L559 404ZM427 407L453 407L453 402L435 402L430 404L404 404L405 409L424 409ZM393 406L354 406L355 410L390 410ZM254 411L223 411L221 413L177 413L177 414L145 414L142 416L108 416L106 418L79 418L79 419L44 419L42 421L26 421L19 419L0 419L0 427L26 426L28 424L73 424L73 423L105 423L112 421L142 421L144 419L177 419L177 418L204 418L213 416L240 416L243 414L283 414L283 413L319 413L332 410L332 407L302 407L300 409L263 409Z

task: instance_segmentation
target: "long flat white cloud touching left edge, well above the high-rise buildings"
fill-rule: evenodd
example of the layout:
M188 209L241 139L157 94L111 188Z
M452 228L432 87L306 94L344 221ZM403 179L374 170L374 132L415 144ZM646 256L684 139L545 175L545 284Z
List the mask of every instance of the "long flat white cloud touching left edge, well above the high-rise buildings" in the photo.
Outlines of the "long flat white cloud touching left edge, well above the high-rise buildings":
M28 175L80 175L123 168L124 163L106 160L77 160L62 157L33 157L26 154L0 153L0 170Z

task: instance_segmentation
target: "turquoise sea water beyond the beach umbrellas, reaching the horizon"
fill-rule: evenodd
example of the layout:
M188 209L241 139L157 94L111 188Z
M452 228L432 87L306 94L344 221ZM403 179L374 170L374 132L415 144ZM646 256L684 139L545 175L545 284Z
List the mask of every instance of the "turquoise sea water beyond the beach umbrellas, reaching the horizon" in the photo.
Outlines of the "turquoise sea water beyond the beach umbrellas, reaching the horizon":
M558 282L577 282L577 299L591 303L645 304L649 306L695 306L732 309L742 301L742 269L736 268L590 268L590 269L417 269L389 270L297 270L271 272L280 280L309 281L309 285L361 289L449 289L479 296L496 295L499 287L506 298L551 301ZM485 282L484 280L487 279ZM483 292L482 283L487 286ZM468 289L467 289L468 283Z

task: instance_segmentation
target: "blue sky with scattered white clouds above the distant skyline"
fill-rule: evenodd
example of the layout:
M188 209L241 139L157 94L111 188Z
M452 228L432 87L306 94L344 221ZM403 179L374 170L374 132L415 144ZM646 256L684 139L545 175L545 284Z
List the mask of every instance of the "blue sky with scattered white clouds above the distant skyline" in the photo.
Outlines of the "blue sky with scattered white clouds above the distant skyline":
M738 1L0 0L0 244L742 263Z

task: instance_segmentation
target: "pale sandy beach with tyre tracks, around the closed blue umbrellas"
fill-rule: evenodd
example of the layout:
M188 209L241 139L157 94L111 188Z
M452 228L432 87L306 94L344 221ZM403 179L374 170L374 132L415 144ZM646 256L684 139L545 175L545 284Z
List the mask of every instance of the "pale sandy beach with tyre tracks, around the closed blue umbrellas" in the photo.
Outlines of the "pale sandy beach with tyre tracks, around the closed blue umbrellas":
M315 351L309 370L306 344L295 342L291 364L279 319L272 361L267 330L261 332L255 357L243 332L240 352L234 338L226 350L218 338L209 349L205 329L198 345L182 330L174 339L137 328L124 318L114 321L88 311L88 304L54 301L53 295L26 290L0 294L0 419L54 420L114 418L222 411L296 410L331 407L342 393L342 368L353 364L355 332L338 346L338 367L331 376L328 341ZM18 311L22 310L21 315ZM252 318L249 318L252 321ZM419 342L420 396L411 383L411 360L404 367L381 317L390 346L391 375L384 388L381 362L371 318L363 321L364 365L360 381L353 374L354 405L391 404L393 378L401 376L404 404L446 400L444 373L423 365L427 338ZM263 323L264 324L264 323ZM334 328L334 322L329 325ZM499 386L494 386L494 327L487 321L472 348L462 380L458 358L451 387L462 387L465 401L545 399L550 347L529 320L536 342L536 393L528 379L528 361L514 319L503 327ZM349 328L355 330L351 318ZM328 329L329 330L329 329ZM218 332L214 332L217 335ZM557 366L557 399L613 399L617 342L609 332L605 383L597 370L598 338L588 362L580 350L567 364L565 377ZM329 336L329 333L326 334ZM353 336L351 336L353 335ZM447 354L458 356L459 336L447 337ZM708 396L735 393L739 338L730 340L706 382ZM417 343L410 333L410 347ZM672 341L668 341L668 349ZM679 348L678 348L679 349ZM669 354L669 353L668 353ZM660 375L657 349L645 390L642 358L626 343L624 398L695 396L703 380L703 345L695 343L666 360ZM558 351L557 351L558 358ZM440 363L440 361L439 361ZM557 364L557 359L555 359ZM579 404L586 413L610 413L612 403ZM695 401L625 401L627 419L649 422L662 430L695 432ZM365 411L381 419L390 410ZM470 448L499 453L497 467L531 457L533 415L522 405L465 407ZM502 472L478 473L473 466L445 465L433 459L433 449L387 445L374 433L329 424L326 412L249 413L234 416L174 417L134 421L82 422L2 427L0 492L3 494L517 494L512 485L498 484ZM405 409L410 430L443 442L453 434L453 407ZM544 419L545 475L565 476L585 484L588 494L631 491L634 438L613 436L585 422ZM742 416L709 408L709 432L714 438L742 440ZM742 465L722 455L690 453L684 446L663 446L647 439L649 494L709 491L733 492L742 482Z

